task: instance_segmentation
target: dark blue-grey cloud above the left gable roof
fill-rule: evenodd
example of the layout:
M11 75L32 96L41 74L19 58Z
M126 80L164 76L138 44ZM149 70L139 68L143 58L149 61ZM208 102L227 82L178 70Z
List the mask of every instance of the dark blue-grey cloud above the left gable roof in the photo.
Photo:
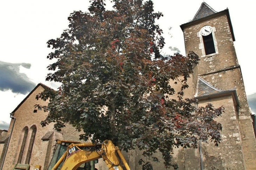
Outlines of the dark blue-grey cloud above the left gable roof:
M11 90L13 93L26 94L30 92L35 83L31 82L26 74L20 73L19 67L30 69L27 63L5 63L0 61L0 90Z

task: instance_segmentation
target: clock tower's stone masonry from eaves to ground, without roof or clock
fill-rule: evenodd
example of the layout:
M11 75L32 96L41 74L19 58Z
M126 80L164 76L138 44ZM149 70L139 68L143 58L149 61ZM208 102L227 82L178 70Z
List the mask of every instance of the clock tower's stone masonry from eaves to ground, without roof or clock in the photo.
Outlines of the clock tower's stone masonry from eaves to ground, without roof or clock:
M205 25L213 27L215 54L204 55L202 35L199 34L199 30ZM232 37L231 34L231 23L227 18L227 12L220 12L214 16L193 22L193 24L187 24L183 29L186 52L193 50L201 58L201 61L198 64L198 76L220 90L236 89L240 104L234 109L234 113L236 114L236 121L240 134L239 139L242 146L240 150L244 155L246 169L255 169L256 141L245 94L241 68L240 65L238 65L234 48L234 37ZM226 107L227 103L223 103L222 105ZM224 118L220 119L225 120ZM227 122L224 121L223 126L226 125L226 123ZM225 130L223 130L223 133L225 133ZM238 149L239 147L231 147L230 151L232 153L232 150ZM227 150L228 153L230 151ZM236 161L241 162L238 157ZM244 163L242 162L242 164ZM245 169L245 167L240 168Z

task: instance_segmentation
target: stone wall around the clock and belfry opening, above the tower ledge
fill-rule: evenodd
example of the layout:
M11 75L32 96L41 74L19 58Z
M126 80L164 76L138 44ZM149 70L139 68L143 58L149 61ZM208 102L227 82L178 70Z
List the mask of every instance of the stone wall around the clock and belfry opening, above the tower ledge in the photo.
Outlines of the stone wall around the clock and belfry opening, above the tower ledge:
M215 45L217 45L218 54L202 55L203 43L200 41L202 35L199 34L199 30L205 25L214 27L217 42ZM215 16L209 20L203 20L184 28L184 42L186 53L194 51L200 56L201 61L199 63L200 66L198 66L199 75L238 65L229 23L225 14Z

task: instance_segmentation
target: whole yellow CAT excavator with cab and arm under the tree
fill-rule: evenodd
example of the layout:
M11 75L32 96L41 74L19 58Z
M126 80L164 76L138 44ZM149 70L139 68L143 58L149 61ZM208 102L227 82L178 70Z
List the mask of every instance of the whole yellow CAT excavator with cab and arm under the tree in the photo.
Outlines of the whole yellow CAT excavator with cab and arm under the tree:
M123 170L121 162L130 170L119 148L110 140L96 144L58 140L57 144L47 170L97 170L95 163L100 158L110 170ZM96 145L101 145L101 149L95 149ZM36 165L36 170L41 170L41 166Z

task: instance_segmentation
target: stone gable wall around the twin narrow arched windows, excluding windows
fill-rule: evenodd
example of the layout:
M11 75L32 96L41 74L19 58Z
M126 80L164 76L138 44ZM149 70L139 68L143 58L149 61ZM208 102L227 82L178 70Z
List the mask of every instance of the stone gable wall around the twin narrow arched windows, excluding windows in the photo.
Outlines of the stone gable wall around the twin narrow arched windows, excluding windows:
M47 147L45 147L46 144L42 142L41 138L46 134L46 132L53 130L53 125L49 125L44 128L42 128L42 126L40 125L41 120L44 120L46 118L47 113L43 111L38 111L37 113L33 113L35 104L46 105L45 101L42 101L42 100L37 101L35 99L36 94L40 93L43 90L44 90L43 87L39 86L14 113L13 116L16 118L16 121L14 124L14 129L11 136L11 141L9 143L3 170L11 169L14 166L14 164L16 164L18 161L21 143L22 143L23 134L24 134L22 133L22 130L24 127L28 127L29 132L27 135L27 142L25 145L25 150L23 153L21 163L24 164L26 160L27 148L29 145L29 139L31 137L31 132L32 132L31 127L36 127L37 130L36 130L30 164L31 164L31 169L33 169L36 164L42 165L42 169L43 169L43 165L45 161L45 148ZM8 133L11 131L12 123L13 123L13 119L11 121Z

